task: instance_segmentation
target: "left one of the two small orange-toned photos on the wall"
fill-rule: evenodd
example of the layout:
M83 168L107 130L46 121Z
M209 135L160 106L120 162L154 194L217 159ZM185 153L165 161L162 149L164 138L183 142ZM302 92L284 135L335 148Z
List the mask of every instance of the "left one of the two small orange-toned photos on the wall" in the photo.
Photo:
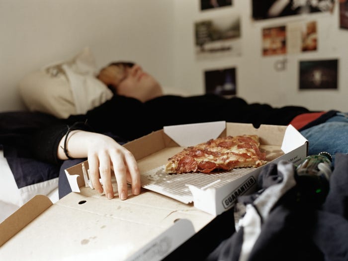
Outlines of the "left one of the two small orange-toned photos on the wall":
M286 27L262 29L262 55L279 55L286 53Z

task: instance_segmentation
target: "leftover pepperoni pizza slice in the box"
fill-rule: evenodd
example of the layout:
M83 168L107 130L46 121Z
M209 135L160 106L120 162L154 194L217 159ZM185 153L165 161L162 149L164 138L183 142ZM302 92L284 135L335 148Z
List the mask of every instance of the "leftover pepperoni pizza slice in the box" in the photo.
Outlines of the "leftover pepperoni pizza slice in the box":
M227 136L190 146L168 159L165 172L182 174L260 167L266 163L258 135Z

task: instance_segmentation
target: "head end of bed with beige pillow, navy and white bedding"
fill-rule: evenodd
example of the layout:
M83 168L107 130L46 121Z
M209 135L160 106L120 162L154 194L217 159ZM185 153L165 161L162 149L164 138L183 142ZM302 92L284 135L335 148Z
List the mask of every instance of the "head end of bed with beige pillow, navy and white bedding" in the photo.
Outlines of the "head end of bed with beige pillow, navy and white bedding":
M37 128L84 114L111 98L110 89L95 77L97 71L94 55L85 47L19 81L27 110L0 112L0 222L34 195L58 200L60 168L33 159L27 152L27 137Z

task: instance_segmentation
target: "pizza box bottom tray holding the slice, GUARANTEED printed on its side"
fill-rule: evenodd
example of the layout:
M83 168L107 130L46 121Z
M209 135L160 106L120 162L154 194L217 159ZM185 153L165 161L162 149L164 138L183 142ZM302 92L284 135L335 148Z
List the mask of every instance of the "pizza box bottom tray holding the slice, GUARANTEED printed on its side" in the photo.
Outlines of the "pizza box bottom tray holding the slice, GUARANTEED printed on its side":
M212 138L244 134L260 137L267 164L280 160L296 164L307 156L308 141L292 125L261 125L254 128L252 124L225 121L165 126L124 146L138 162L142 187L186 204L193 202L198 209L218 215L231 208L239 195L255 192L257 177L265 165L211 174L166 174L164 166L168 158L185 147ZM87 186L86 178L80 171L82 164L88 168L86 161L66 170L75 192Z

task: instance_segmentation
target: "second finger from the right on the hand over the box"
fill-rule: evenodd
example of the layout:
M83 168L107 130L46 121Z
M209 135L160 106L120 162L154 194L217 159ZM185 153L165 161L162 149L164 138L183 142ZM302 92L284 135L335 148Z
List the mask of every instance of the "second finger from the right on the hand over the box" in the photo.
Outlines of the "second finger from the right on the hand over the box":
M128 186L127 186L127 168L123 161L122 152L119 150L110 153L111 161L113 165L114 174L117 180L117 189L120 199L124 200L128 197Z

